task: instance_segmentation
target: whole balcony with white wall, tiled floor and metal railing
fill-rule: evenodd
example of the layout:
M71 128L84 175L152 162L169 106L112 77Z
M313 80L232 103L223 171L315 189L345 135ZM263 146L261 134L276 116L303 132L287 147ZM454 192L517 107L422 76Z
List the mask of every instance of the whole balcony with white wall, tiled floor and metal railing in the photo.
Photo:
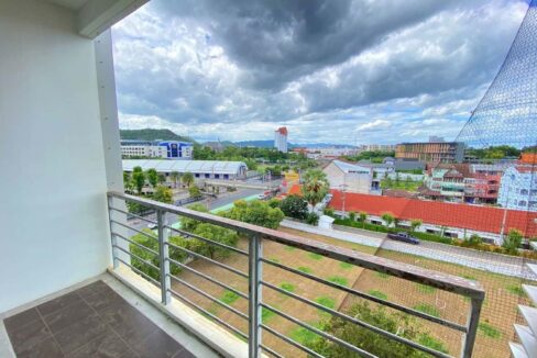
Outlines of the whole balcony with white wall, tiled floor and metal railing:
M9 174L0 186L6 230L0 240L0 357L321 356L283 326L264 322L266 312L349 354L374 356L303 320L307 310L350 322L396 347L448 356L319 303L311 295L320 287L439 326L456 342L452 354L470 357L484 298L476 281L123 194L109 27L143 2L0 0L0 167ZM155 219L139 220L156 231L132 225L125 201L154 211ZM227 247L193 235L172 224L175 216L238 232L243 245ZM155 249L140 247L134 234L153 240ZM169 240L174 235L240 259L231 265L200 255L175 245ZM305 272L266 257L268 245L437 289L461 302L462 315L441 318ZM184 260L171 251L182 251ZM198 270L194 264L201 261L210 270ZM300 278L309 295L277 286L271 270ZM229 277L241 283L222 279ZM243 305L226 303L216 288ZM274 305L274 294L294 302L294 312ZM216 314L215 307L229 314Z

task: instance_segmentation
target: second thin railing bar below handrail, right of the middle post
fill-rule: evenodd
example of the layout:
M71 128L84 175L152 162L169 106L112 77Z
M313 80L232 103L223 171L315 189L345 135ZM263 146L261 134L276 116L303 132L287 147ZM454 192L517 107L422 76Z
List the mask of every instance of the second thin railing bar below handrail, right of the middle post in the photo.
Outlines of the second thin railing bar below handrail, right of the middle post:
M282 294L288 295L288 297L291 297L291 298L293 298L295 300L298 300L298 301L304 302L306 304L313 305L314 307L316 307L318 310L321 310L321 311L325 311L327 313L330 313L331 315L338 316L338 317L340 317L342 320L347 320L347 321L349 321L349 322L351 322L351 323L353 323L355 325L359 325L359 326L362 326L362 327L364 327L366 329L370 329L370 331L372 331L372 332L374 332L376 334L380 334L381 336L385 336L385 337L387 337L390 339L396 340L396 342L398 342L401 344L410 346L413 348L416 348L416 349L419 349L421 351L428 353L428 354L430 354L432 356L436 356L436 357L446 357L446 358L450 357L449 355L445 355L445 354L442 354L442 353L440 353L438 350L435 350L432 348L429 348L429 347L426 347L426 346L421 346L420 344L415 343L415 342L413 342L410 339L401 337L401 336L398 336L396 334L393 334L391 332L387 332L387 331L384 331L382 328L379 328L379 327L376 327L376 326L374 326L372 324L369 324L366 322L363 322L363 321L360 321L358 318L348 316L347 314L343 314L343 313L341 313L339 311L336 311L336 310L329 309L327 306L324 306L322 304L319 304L317 302L314 302L311 300L308 300L306 298L303 298L303 297L300 297L298 294L295 294L293 292L285 291L285 290L281 289L277 286L274 286L272 283L268 283L268 282L265 282L265 281L261 281L261 284L263 284L263 286L265 286L267 288L271 288L271 289L273 289L273 290L275 290L275 291L277 291L277 292L280 292Z

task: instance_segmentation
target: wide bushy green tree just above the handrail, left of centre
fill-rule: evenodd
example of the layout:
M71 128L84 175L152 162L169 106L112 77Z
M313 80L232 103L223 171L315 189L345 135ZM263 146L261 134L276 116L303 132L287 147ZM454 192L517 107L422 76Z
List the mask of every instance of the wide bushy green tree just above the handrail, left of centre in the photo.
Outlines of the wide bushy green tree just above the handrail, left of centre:
M234 206L223 213L222 216L242 221L259 226L277 228L285 215L280 208L271 208L267 202L261 200L238 200Z

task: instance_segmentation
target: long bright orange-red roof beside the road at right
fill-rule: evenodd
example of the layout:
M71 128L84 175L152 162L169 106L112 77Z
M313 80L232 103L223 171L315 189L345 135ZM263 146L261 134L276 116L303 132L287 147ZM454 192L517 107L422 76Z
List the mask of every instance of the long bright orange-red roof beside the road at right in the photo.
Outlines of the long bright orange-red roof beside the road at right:
M302 194L300 187L295 184L291 188L289 194ZM329 206L341 210L343 195L339 190L331 190L332 200ZM439 226L468 228L480 232L501 232L504 213L505 233L511 228L517 228L525 236L537 236L537 212L507 210L492 206L480 206L470 204L447 203L440 201L426 201L407 198L393 198L382 195L369 195L359 193L344 193L346 211L364 211L371 215L381 216L391 213L397 219L419 219L424 223Z

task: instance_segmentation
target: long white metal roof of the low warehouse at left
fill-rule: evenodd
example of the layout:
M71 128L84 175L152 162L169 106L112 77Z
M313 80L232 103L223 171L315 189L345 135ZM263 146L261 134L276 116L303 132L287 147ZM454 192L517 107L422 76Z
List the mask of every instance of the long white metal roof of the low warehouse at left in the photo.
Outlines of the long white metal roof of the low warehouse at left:
M248 168L243 161L220 160L166 160L166 159L124 159L123 170L132 171L134 167L142 170L156 169L156 171L169 172L216 172L238 174L241 167Z

